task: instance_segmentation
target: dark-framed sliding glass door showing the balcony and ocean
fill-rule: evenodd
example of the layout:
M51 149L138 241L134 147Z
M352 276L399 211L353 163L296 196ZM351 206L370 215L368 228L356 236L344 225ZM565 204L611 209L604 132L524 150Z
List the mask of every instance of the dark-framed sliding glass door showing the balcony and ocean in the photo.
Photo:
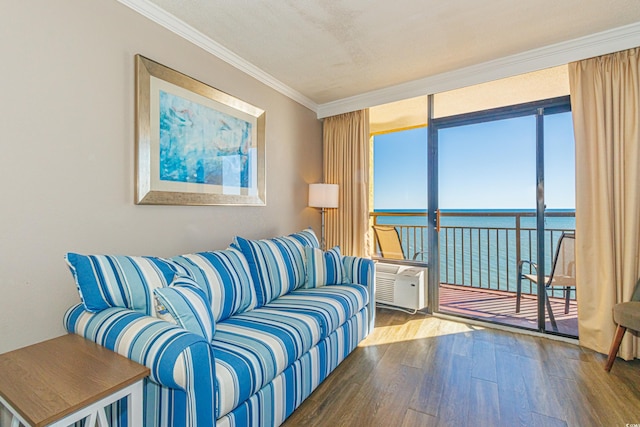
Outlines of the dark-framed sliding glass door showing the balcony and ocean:
M577 335L567 322L559 327L575 309L572 290L566 298L566 289L536 284L545 283L560 236L573 229L568 97L430 123L432 309Z

